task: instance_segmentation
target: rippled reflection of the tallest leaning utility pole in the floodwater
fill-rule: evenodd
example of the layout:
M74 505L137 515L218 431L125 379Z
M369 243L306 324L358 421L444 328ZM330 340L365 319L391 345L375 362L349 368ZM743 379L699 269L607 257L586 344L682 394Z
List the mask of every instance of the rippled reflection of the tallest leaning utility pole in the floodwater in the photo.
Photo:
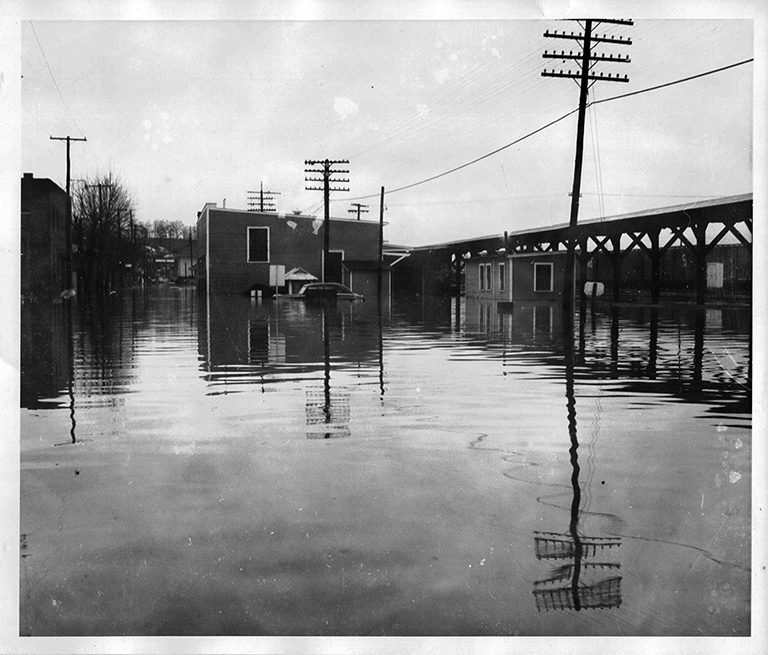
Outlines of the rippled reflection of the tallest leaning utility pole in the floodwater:
M591 573L618 570L617 562L593 561L592 558L621 546L620 537L594 537L579 531L581 486L579 484L579 441L576 430L576 397L574 393L574 352L572 317L563 316L565 350L565 394L568 409L568 435L572 467L571 520L566 532L535 531L536 558L567 563L557 566L552 574L534 584L533 595L538 611L607 609L621 605L621 576L603 575L594 581ZM582 577L583 576L583 577Z

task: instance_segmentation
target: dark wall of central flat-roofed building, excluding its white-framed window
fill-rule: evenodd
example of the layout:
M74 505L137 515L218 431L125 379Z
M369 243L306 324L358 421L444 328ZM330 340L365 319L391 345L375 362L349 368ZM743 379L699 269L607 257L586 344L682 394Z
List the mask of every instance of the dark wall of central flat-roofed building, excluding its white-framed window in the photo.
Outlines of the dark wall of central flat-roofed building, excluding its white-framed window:
M269 261L248 261L249 227L269 228ZM330 237L330 250L343 251L344 260L378 258L377 223L333 219ZM280 217L206 206L198 221L198 244L198 257L210 259L207 269L214 293L267 287L274 264L282 264L286 271L300 266L318 279L323 276L324 226L322 220L310 216Z

